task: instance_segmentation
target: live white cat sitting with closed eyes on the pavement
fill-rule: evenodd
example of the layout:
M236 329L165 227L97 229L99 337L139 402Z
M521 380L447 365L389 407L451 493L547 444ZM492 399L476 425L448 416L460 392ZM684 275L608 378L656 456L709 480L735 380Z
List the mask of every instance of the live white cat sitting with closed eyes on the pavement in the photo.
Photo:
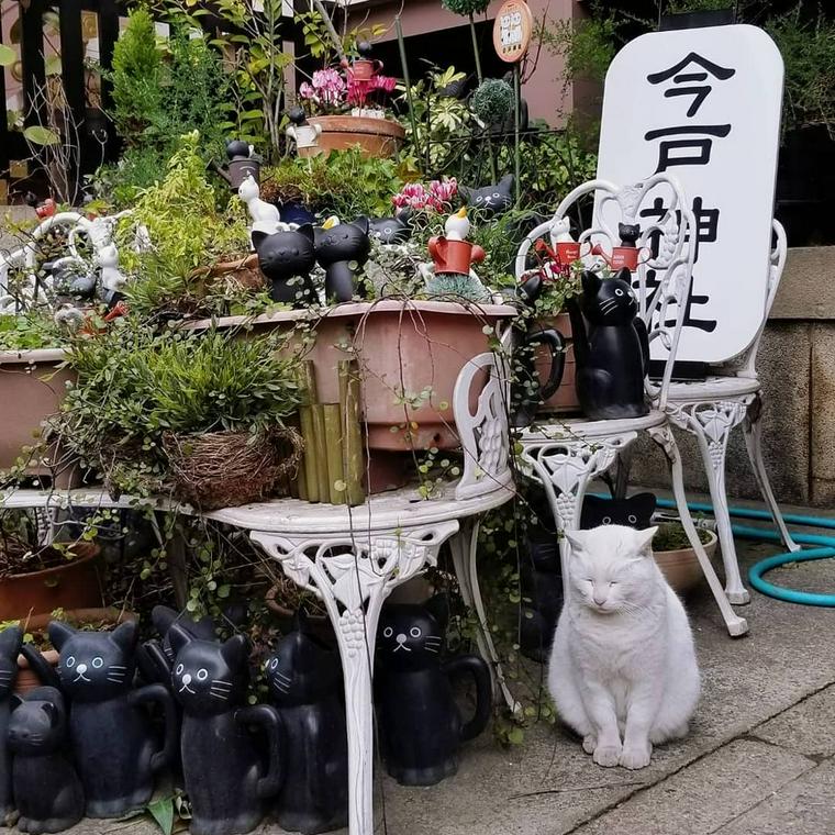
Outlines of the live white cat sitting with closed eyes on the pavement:
M566 533L569 591L548 688L599 766L648 766L653 745L687 734L699 700L690 624L653 559L657 530Z

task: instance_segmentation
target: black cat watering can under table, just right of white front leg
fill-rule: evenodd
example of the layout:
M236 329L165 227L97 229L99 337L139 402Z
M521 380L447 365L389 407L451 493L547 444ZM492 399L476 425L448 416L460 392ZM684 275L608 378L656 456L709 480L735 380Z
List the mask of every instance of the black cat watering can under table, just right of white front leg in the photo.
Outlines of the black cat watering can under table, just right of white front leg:
M478 736L490 720L490 669L475 655L441 659L449 617L445 594L423 605L392 604L377 630L377 719L388 772L402 786L434 786L458 770L461 742ZM461 719L452 681L469 673L476 712Z

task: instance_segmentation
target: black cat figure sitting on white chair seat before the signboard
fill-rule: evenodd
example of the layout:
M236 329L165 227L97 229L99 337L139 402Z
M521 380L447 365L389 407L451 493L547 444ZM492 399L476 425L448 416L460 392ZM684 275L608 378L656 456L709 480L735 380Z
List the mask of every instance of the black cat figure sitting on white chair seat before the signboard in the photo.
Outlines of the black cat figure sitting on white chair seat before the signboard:
M592 421L649 412L644 378L649 363L646 325L625 267L614 278L582 276L582 293L568 302L577 361L577 397Z

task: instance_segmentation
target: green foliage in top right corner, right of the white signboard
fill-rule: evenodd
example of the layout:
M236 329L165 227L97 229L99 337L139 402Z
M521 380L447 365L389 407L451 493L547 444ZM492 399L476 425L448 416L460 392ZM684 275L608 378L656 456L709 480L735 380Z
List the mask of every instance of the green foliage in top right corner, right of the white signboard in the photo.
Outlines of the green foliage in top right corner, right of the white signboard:
M835 21L802 4L765 25L786 65L783 131L823 124L835 138Z

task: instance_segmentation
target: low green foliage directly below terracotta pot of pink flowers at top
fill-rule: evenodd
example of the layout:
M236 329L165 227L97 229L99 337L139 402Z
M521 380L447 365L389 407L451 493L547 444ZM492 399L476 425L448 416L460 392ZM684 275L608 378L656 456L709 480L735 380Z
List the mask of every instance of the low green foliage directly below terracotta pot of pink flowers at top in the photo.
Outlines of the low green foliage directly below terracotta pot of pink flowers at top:
M266 200L300 200L312 211L336 214L388 215L391 197L403 186L392 159L364 157L355 149L334 151L311 159L286 159L261 175Z

